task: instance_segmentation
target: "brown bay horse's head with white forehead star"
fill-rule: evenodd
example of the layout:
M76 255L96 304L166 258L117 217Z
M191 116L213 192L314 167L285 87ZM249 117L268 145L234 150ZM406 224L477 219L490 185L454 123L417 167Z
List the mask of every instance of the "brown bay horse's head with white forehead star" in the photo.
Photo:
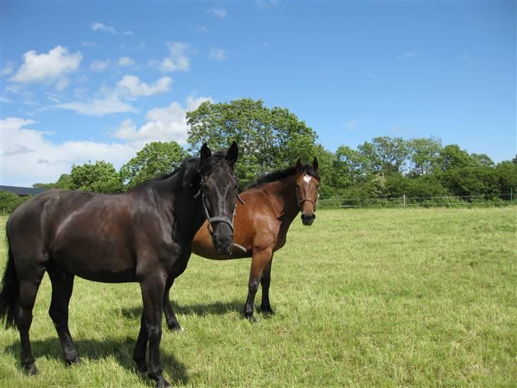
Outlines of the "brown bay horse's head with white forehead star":
M316 218L317 198L320 196L320 174L317 173L317 158L312 161L312 166L304 165L298 159L296 162L296 200L298 208L302 212L303 225L312 225Z

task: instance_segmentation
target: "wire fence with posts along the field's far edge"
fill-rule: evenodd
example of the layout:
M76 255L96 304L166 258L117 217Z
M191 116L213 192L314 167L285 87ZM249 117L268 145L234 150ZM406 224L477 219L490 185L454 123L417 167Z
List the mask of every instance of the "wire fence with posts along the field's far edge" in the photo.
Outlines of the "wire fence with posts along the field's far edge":
M508 195L447 195L444 197L393 198L328 198L318 201L318 208L409 208L448 206L506 206L516 203L513 193Z

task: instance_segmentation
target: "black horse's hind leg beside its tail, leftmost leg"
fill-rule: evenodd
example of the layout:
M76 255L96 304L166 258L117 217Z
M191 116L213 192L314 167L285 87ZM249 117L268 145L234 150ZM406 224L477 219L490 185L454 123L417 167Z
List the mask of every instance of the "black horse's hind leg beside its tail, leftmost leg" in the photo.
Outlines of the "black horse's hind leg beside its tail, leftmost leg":
M45 267L33 265L21 268L19 274L23 274L20 281L20 295L18 297L18 306L16 309L16 326L20 331L21 344L21 365L27 374L36 374L38 370L34 365L34 357L31 352L31 338L29 330L33 319L33 307L36 301L36 294L45 274Z

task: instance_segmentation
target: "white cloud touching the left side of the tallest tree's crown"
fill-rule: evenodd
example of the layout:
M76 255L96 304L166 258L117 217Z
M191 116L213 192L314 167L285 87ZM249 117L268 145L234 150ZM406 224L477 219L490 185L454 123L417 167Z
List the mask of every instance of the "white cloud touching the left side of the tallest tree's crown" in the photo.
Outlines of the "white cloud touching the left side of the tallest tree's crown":
M197 109L202 102L211 101L209 97L187 98L185 107L172 102L168 107L151 109L146 114L148 122L140 128L127 119L121 123L114 133L117 139L131 142L136 149L150 141L171 141L186 144L188 124L187 112Z

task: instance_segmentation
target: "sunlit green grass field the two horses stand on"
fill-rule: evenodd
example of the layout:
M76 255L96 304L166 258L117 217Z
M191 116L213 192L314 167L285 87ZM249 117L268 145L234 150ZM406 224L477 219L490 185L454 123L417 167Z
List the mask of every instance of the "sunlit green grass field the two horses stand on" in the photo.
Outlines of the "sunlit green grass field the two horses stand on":
M1 219L4 242L6 217ZM271 305L241 318L249 260L192 257L172 297L185 332L165 328L176 385L517 385L517 208L320 210L273 259ZM2 249L1 273L6 261ZM31 328L39 374L0 328L0 387L153 387L133 371L138 284L76 279L66 367L48 316L45 275Z

